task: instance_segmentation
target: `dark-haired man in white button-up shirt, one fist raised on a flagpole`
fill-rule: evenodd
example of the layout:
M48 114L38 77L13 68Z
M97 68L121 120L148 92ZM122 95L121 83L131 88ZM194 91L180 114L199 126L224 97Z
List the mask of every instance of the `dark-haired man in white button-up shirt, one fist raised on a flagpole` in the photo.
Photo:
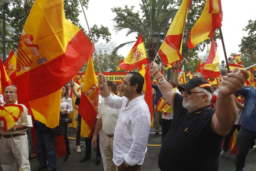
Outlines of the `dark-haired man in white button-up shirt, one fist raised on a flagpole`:
M141 95L144 78L138 72L129 72L121 89L123 97L113 96L107 86L106 77L99 74L99 85L103 84L104 101L111 108L120 109L114 131L113 162L118 170L141 170L150 132L150 112Z

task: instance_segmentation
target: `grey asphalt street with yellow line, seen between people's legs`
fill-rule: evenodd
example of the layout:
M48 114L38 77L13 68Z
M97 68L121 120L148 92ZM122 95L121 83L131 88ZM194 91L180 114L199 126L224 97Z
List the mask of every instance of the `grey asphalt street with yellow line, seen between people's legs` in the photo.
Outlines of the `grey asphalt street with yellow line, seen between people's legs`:
M103 171L103 164L101 162L100 165L96 166L95 165L95 160L96 160L96 152L94 151L94 148L92 148L92 156L90 160L87 160L84 163L79 163L79 160L84 156L85 149L84 143L81 143L81 150L82 153L78 154L76 153L76 143L75 139L71 138L76 138L76 129L71 129L68 128L68 131L70 134L68 134L68 137L70 137L70 150L71 150L71 158L69 161L64 162L64 157L58 158L57 159L57 170L87 170L87 171L96 171L100 170ZM155 129L151 128L151 133L148 139L148 148L147 148L147 153L145 156L144 163L142 165L142 170L146 171L155 171L155 170L160 170L158 168L157 164L157 158L158 158L158 153L160 150L160 145L161 145L161 136L162 134L160 133L158 137L154 137ZM210 147L209 147L210 148ZM207 152L201 152L198 151L198 153L204 153ZM235 160L235 155L233 154L228 154L228 157L221 157L220 158L220 171L231 171L234 168L234 160ZM30 161L31 165L31 170L34 170L38 162L37 160ZM2 169L0 169L2 170ZM46 170L46 169L45 169ZM246 159L246 166L244 168L244 171L255 171L256 170L256 150L250 149L249 154L247 155Z

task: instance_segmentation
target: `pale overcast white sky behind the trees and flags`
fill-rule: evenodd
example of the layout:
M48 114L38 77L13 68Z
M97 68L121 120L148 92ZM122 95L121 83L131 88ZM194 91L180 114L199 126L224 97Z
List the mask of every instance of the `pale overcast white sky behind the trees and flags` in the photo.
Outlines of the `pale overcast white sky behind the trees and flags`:
M105 0L90 0L89 8L86 10L86 17L89 23L89 26L92 27L93 24L107 26L111 33L111 38L113 41L116 41L117 46L121 43L133 41L135 39L135 34L125 37L126 31L120 31L116 33L113 30L114 22L112 19L115 17L115 14L111 12L113 7L124 7L128 5L129 7L134 5L134 11L140 10L140 0L129 0L129 1L105 1ZM193 2L191 3L193 5ZM248 21L256 19L255 12L256 1L254 0L222 0L222 11L223 11L223 21L222 21L222 33L224 37L224 43L226 47L227 55L231 53L239 53L238 45L241 43L243 36L246 36L247 33L242 29L248 25ZM79 15L81 25L88 30L86 22L84 19L83 13ZM112 41L111 40L111 41ZM105 43L104 40L99 42ZM217 50L220 55L220 62L224 59L223 48L221 40L217 41L218 47ZM133 45L132 45L133 46ZM118 53L126 57L131 50L132 46L125 46L121 48ZM210 45L209 45L210 48ZM206 48L207 49L207 48ZM206 51L206 50L205 50ZM198 55L204 55L200 53ZM225 60L224 60L225 61Z

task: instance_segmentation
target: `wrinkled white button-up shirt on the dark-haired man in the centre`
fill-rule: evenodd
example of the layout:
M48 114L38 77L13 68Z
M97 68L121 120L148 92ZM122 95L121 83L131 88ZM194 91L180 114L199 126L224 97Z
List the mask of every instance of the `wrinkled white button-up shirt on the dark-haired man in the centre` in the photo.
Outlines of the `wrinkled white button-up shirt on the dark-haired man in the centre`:
M127 107L126 97L104 98L111 108L120 109L113 142L113 162L120 166L125 160L130 166L142 165L150 132L150 112L144 95L133 99Z

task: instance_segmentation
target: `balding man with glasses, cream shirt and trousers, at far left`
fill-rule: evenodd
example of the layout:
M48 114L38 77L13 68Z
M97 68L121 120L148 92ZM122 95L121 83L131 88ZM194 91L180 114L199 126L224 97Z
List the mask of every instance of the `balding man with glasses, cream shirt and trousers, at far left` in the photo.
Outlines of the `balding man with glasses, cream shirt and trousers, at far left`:
M14 85L8 86L4 90L6 104L18 104L17 102L17 88ZM28 160L28 139L26 130L28 127L33 127L31 116L28 115L27 108L23 107L23 113L18 119L13 128L3 132L3 121L0 122L1 140L0 140L0 160L3 170L18 170L30 171L30 164ZM1 105L1 106L4 106Z

